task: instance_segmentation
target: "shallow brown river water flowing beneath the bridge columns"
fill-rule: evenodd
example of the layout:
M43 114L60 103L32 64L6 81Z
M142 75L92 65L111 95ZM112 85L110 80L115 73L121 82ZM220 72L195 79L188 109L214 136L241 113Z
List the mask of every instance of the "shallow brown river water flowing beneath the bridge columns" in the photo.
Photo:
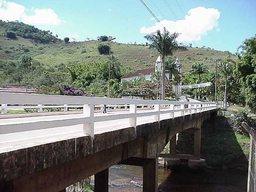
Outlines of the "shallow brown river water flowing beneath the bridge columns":
M142 167L114 165L109 168L110 192L142 191ZM245 192L247 171L244 169L206 169L191 173L186 168L172 172L159 166L160 192Z

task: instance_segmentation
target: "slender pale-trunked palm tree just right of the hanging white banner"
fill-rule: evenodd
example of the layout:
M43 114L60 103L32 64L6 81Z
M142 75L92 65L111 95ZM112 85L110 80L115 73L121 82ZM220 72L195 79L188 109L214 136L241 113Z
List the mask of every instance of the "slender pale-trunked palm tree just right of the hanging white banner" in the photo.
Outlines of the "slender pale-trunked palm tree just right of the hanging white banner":
M232 72L232 64L234 63L234 61L230 58L230 55L228 55L228 57L223 60L222 62L222 66L220 67L220 72L222 74L222 76L224 76L225 79L225 94L224 94L224 103L223 103L223 109L227 110L228 105L228 76L231 74Z

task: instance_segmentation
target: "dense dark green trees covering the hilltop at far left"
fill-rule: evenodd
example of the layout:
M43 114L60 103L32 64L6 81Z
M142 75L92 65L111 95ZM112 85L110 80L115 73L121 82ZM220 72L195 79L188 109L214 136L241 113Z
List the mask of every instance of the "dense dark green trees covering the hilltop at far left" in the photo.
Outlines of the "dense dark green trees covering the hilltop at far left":
M53 36L50 31L43 31L19 21L5 22L0 20L0 26L5 28L7 31L6 37L8 38L20 36L25 39L32 39L38 43L54 43L58 40L58 35Z

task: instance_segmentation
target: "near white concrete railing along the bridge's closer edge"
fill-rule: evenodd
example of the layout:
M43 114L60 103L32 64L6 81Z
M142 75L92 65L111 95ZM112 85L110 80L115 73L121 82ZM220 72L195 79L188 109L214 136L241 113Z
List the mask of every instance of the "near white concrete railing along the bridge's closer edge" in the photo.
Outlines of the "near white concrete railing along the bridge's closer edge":
M47 120L33 120L33 121L21 121L0 123L0 134L24 132L39 129L48 129L54 127L72 126L77 124L83 124L84 134L89 134L94 137L94 123L101 121L110 121L118 119L129 118L129 126L136 127L137 117L154 116L155 121L159 121L160 114L170 114L170 118L174 117L175 112L180 112L181 116L184 113L200 113L202 111L208 111L217 108L215 103L212 102L187 102L187 101L163 101L163 100L138 100L138 99L117 99L117 98L100 98L100 97L80 97L80 96L62 96L62 95L39 95L39 94L25 94L25 93L0 93L0 103L3 108L7 104L13 105L39 105L43 107L43 104L51 105L65 105L65 106L83 106L82 117L73 118L59 118L59 119L47 119ZM129 112L117 113L105 116L94 116L95 105L124 105L129 106ZM137 106L151 105L154 106L152 110L143 110L138 112ZM174 108L179 106L179 108ZM35 106L35 107L37 107ZM161 110L160 106L168 106ZM9 106L8 106L9 107ZM11 106L10 106L11 107ZM24 106L12 106L18 108L24 108ZM49 106L47 106L49 107Z

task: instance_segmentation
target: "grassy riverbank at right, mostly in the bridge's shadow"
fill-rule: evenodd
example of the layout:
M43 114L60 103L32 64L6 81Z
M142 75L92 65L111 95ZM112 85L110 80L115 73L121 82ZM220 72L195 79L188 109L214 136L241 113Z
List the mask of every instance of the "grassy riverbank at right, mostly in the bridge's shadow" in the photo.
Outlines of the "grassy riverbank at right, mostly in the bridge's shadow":
M212 167L248 166L250 138L234 132L202 136L201 157Z

